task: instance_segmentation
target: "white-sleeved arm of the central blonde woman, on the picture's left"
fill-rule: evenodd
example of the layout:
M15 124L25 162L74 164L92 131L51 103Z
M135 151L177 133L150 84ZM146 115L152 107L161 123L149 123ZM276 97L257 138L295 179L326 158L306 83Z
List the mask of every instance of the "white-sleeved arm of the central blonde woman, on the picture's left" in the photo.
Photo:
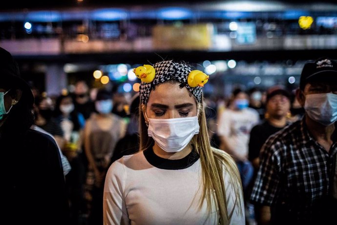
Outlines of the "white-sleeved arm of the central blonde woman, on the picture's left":
M129 225L125 192L125 168L120 160L111 164L107 171L103 194L103 224Z

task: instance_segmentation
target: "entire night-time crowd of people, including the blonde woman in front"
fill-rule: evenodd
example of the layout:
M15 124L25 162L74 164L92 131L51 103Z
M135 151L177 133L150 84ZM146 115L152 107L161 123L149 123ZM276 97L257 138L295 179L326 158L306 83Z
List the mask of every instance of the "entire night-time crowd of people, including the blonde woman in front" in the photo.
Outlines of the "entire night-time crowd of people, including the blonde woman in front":
M161 61L126 102L106 87L91 96L82 80L33 94L0 54L11 224L334 224L337 61L308 61L295 92L238 87L218 99L203 95L202 71Z

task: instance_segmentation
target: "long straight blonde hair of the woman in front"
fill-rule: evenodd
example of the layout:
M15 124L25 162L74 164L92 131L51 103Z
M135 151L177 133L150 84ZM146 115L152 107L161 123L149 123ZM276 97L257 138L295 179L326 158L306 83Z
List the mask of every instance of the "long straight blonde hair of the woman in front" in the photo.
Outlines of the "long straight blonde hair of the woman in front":
M178 83L178 82L177 82ZM229 224L232 218L232 213L227 211L226 190L223 180L223 172L229 174L230 183L233 185L233 190L236 195L234 206L239 204L239 213L243 215L241 210L240 193L242 192L240 174L232 157L224 151L216 150L211 147L210 138L207 132L207 122L203 107L203 100L197 103L199 108L199 125L200 130L198 135L194 135L191 142L195 147L196 152L200 156L200 163L203 176L203 194L200 199L200 207L203 200L207 200L207 207L211 212L211 199L215 200L219 209L220 223L222 225ZM147 125L143 112L146 106L139 107L139 135L140 135L140 151L146 150L153 145L154 140L147 135ZM223 171L225 168L225 171Z

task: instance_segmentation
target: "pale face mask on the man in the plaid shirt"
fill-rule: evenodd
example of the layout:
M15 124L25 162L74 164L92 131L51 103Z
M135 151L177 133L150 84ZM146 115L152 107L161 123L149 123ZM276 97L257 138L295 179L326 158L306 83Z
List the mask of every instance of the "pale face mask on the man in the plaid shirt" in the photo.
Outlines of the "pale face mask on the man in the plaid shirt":
M308 94L305 97L305 112L318 123L328 126L337 120L337 94Z

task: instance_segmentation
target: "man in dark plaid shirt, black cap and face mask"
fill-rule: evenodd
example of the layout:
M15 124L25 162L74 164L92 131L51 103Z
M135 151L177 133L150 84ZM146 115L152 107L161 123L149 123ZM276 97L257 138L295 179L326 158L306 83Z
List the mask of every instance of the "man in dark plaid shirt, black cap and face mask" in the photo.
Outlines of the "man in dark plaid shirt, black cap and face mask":
M337 61L307 61L296 98L305 115L263 145L251 200L264 223L335 224Z

